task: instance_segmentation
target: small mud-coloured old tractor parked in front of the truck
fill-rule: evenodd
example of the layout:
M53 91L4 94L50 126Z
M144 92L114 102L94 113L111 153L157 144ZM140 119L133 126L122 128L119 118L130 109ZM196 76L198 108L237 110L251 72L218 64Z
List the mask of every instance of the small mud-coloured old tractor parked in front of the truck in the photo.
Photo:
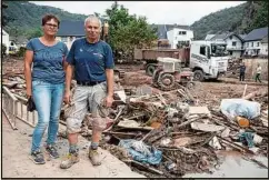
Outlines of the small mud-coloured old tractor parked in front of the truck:
M189 68L181 67L181 60L175 58L157 58L158 64L152 76L152 82L156 88L163 91L177 88L177 83L193 88L193 72Z

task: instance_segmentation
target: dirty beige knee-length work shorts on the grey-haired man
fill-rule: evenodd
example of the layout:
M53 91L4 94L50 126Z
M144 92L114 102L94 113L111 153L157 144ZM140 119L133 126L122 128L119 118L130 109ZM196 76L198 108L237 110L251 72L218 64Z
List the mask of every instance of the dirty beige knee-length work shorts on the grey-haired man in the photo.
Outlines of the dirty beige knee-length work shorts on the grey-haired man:
M108 109L104 107L104 98L107 96L107 82L102 82L92 87L78 86L71 100L71 107L67 110L67 130L68 133L80 132L81 123L86 113L90 110L92 117L93 130L102 131L106 129L106 118Z

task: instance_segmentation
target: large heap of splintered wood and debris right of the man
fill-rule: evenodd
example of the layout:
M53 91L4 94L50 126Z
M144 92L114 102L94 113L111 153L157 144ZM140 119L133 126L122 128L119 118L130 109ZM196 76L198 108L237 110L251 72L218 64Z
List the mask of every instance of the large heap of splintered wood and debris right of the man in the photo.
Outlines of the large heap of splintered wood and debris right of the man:
M116 109L110 117L117 120L104 130L101 147L147 177L211 172L220 163L218 150L268 156L268 129L263 122L268 110L246 119L249 126L243 127L238 116L235 119L225 116L220 104L215 108L198 104L188 93L181 89L128 96L121 111ZM136 150L133 144L122 147L131 141L145 151ZM146 152L148 156L143 156ZM150 158L157 160L159 153L160 162L151 162Z

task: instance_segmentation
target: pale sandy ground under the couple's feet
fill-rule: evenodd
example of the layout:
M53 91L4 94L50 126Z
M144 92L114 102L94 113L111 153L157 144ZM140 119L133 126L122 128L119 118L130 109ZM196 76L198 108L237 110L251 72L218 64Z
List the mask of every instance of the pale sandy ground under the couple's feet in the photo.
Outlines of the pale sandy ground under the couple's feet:
M59 168L67 154L68 141L58 137L57 148L60 159L50 159L46 153L46 164L37 166L28 157L30 152L32 128L17 121L18 130L12 130L2 114L2 178L143 178L106 150L100 149L103 163L93 167L87 158L89 141L79 138L80 162L68 170ZM60 126L60 131L66 127ZM47 137L47 134L44 134ZM44 140L44 138L43 138ZM42 141L42 144L43 141Z

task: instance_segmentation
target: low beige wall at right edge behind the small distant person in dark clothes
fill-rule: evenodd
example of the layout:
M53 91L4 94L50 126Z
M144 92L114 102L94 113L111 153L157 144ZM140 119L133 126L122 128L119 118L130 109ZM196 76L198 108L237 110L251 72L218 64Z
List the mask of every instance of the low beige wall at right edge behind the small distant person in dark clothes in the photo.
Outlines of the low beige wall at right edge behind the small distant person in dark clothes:
M256 74L257 64L261 66L261 80L268 80L268 59L243 59L246 64L246 78L253 79Z

